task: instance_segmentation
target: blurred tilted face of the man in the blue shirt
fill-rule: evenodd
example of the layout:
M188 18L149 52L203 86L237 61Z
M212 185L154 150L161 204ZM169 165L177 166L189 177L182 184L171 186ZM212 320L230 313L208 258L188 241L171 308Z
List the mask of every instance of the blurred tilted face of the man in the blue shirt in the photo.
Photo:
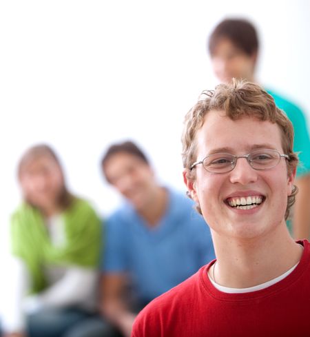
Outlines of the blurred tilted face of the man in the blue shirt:
M156 187L151 167L134 154L120 152L110 156L104 171L107 181L125 196L136 210L143 210Z

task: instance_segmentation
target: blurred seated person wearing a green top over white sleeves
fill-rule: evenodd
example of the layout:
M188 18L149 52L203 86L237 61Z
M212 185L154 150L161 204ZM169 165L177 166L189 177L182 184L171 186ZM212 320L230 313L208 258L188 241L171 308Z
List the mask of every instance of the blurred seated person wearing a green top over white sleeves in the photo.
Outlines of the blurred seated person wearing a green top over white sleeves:
M10 283L4 336L93 336L99 218L87 201L68 191L48 145L23 154L18 178L23 203L12 214L12 264L2 276Z

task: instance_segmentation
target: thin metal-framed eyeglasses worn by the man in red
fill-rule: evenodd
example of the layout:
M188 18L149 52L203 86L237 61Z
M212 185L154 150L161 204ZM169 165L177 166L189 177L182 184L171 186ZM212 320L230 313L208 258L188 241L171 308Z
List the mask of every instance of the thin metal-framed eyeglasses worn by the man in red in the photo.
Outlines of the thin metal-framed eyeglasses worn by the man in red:
M258 150L242 156L234 156L229 153L214 153L206 156L202 161L196 161L190 167L193 170L196 165L203 164L205 170L211 173L226 173L234 170L239 158L247 159L254 170L270 170L280 163L281 158L289 159L287 154L280 154L276 150Z

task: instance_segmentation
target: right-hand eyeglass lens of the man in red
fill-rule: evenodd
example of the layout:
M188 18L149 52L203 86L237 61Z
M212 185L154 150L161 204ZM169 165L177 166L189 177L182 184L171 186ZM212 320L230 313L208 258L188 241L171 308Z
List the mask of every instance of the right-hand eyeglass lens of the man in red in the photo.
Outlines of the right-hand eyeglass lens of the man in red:
M252 152L248 159L255 170L268 170L278 165L280 158L276 150L262 150Z

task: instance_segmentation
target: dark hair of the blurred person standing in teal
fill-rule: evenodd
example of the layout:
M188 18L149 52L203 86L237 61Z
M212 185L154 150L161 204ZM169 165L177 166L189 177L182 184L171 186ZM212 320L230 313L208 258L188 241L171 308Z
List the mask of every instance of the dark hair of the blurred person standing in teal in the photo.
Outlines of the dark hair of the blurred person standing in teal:
M220 39L229 39L236 47L249 56L258 51L258 34L252 23L245 19L225 19L221 21L209 37L209 53L214 54Z

